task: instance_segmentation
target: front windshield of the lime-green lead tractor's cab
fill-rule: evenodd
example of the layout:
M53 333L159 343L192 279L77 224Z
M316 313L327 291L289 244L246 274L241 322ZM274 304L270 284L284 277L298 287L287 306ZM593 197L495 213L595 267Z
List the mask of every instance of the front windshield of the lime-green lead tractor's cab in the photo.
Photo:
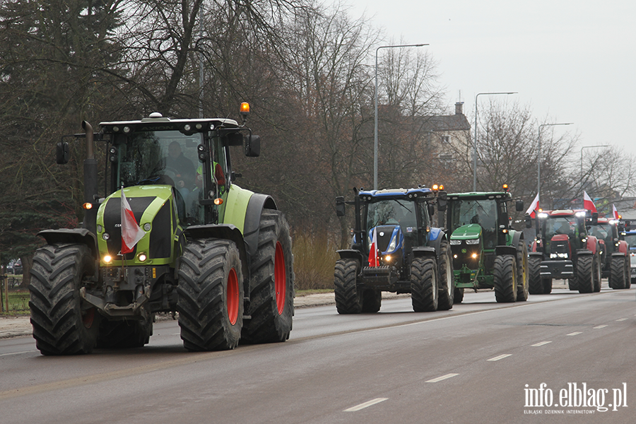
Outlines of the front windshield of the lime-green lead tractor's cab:
M185 136L179 131L148 131L117 136L117 184L128 187L155 182L171 184L184 193L195 188L196 146L201 134Z

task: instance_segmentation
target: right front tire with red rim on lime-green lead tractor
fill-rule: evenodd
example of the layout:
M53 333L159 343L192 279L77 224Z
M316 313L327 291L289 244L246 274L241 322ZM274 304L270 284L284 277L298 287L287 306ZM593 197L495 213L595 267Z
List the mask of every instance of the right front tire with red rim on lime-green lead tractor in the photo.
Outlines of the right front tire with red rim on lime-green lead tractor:
M243 324L243 273L235 243L190 241L179 261L177 311L189 351L233 349Z

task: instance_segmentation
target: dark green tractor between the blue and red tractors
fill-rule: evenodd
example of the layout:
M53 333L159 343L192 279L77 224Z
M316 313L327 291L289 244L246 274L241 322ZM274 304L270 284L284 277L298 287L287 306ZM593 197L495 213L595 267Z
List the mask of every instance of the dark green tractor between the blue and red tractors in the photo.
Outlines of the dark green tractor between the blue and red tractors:
M528 299L527 247L523 232L510 228L510 201L506 185L502 192L448 195L456 303L466 288L494 288L497 302ZM517 200L515 207L522 211L524 202Z

